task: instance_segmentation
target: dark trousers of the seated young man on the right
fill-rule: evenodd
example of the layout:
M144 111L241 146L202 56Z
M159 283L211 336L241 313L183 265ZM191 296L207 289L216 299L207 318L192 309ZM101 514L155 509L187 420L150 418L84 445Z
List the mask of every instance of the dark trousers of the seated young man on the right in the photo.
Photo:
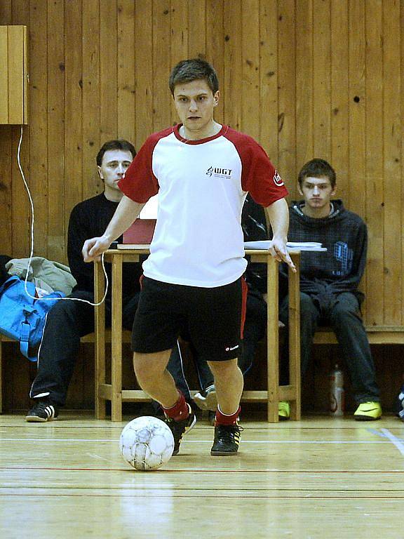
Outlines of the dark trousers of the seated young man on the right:
M281 302L279 318L288 326L288 297ZM327 305L316 301L315 296L300 293L300 353L302 377L307 371L311 358L314 333L319 324L332 327L339 342L344 363L349 371L354 398L358 404L379 401L379 387L375 380L375 366L368 336L361 318L358 300L350 292L335 295L335 300ZM281 354L281 384L288 384L288 335L285 335Z

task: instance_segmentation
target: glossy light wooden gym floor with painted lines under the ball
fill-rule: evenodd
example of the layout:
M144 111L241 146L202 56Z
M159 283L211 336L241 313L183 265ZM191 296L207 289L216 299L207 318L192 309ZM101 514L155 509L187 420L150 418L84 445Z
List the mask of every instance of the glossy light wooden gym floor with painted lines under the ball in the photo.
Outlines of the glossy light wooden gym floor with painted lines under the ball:
M156 472L123 462L125 422L0 416L0 537L402 538L404 423L243 421L240 453L210 457L200 420Z

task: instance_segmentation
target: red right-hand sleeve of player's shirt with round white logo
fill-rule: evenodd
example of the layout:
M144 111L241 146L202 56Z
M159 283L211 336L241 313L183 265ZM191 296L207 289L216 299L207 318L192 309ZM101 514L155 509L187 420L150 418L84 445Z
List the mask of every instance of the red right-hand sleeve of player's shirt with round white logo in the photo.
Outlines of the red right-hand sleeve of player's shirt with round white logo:
M288 196L288 189L264 148L253 138L229 129L227 138L235 145L241 159L241 188L265 208Z

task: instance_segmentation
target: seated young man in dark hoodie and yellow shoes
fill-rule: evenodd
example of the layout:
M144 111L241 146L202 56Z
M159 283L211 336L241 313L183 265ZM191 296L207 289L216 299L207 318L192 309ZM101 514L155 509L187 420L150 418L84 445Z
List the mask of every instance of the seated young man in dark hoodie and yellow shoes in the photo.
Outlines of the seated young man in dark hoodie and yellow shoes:
M323 159L312 159L299 172L299 193L304 200L290 206L290 241L317 241L326 253L303 251L300 264L300 348L302 375L307 371L311 343L318 324L332 326L354 387L356 420L382 415L379 387L368 337L361 318L363 293L358 291L366 263L368 232L365 222L344 208L335 194L335 171ZM282 277L287 270L281 266ZM288 297L279 318L288 324ZM287 342L287 339L285 339ZM286 351L283 354L285 358ZM288 383L282 361L281 384ZM288 414L285 414L285 419Z

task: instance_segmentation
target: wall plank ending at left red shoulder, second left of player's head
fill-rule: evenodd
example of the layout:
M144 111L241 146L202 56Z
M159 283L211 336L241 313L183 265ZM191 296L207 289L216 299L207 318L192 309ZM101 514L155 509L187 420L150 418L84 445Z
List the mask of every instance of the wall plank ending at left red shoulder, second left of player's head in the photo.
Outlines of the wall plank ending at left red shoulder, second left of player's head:
M135 148L140 149L153 131L153 2L142 0L135 8ZM148 44L148 46L145 46ZM166 83L168 84L168 83ZM170 99L168 91L167 100Z

